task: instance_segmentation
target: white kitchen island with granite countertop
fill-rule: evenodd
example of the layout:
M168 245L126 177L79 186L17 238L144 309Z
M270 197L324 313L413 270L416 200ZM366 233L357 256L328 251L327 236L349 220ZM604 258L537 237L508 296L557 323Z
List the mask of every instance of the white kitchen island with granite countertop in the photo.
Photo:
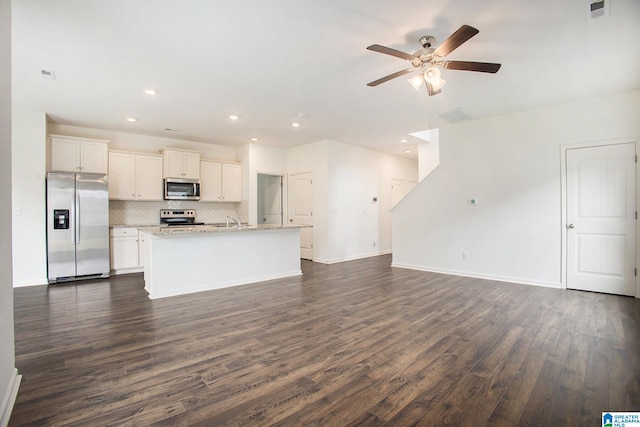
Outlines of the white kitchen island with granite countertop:
M141 227L145 289L155 299L301 275L302 227Z

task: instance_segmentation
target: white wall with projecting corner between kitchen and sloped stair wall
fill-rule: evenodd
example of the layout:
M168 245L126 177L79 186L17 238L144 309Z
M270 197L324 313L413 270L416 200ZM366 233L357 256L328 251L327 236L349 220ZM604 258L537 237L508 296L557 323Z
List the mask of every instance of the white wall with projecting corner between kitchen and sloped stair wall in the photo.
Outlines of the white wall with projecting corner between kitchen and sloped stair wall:
M313 174L315 261L391 250L391 179L416 181L415 160L330 140L291 149L288 158L289 174Z

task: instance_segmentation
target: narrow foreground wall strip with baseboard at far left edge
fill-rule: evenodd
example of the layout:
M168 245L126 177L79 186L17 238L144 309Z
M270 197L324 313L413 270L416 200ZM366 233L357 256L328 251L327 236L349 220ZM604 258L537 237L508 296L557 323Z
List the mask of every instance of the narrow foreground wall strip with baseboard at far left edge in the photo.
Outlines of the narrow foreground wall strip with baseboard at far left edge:
M11 275L11 1L0 0L0 425L18 393Z

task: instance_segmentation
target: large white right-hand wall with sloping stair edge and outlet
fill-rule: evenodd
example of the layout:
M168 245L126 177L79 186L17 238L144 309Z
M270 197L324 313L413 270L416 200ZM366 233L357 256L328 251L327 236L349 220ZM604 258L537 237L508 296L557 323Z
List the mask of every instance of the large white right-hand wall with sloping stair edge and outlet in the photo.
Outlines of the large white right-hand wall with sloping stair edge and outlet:
M639 117L634 91L441 128L440 166L394 210L393 264L561 286L561 146L637 139Z

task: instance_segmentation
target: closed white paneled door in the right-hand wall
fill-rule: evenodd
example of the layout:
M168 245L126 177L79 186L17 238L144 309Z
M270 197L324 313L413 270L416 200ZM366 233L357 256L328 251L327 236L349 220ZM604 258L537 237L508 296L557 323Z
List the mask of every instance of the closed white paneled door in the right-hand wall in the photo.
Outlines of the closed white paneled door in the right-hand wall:
M567 288L635 294L635 144L568 149Z

